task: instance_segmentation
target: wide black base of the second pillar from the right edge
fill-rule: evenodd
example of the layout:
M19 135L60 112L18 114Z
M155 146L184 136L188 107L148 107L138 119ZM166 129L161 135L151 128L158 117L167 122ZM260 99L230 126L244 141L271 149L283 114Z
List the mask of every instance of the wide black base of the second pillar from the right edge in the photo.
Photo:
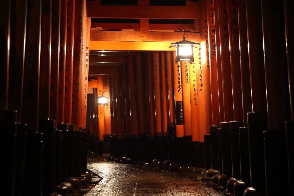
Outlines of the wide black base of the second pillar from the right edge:
M284 180L275 179L277 173L281 179L289 177L285 130L268 130L263 135L267 196L280 195L280 188L284 195L290 195L290 185Z

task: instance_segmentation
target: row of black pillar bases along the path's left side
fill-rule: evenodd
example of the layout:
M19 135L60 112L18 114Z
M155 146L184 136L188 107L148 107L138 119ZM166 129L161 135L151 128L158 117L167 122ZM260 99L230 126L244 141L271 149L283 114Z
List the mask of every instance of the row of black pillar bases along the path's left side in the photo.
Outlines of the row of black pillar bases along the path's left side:
M17 111L0 111L5 195L68 196L91 181L86 170L88 134L76 125L38 120L38 131L17 123Z

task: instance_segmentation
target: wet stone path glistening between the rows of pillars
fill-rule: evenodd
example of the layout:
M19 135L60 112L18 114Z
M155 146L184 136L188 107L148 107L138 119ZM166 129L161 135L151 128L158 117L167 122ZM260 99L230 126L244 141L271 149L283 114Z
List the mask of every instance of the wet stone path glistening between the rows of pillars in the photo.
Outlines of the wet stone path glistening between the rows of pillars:
M97 158L88 158L87 169L101 180L85 196L223 196L194 173L171 172Z

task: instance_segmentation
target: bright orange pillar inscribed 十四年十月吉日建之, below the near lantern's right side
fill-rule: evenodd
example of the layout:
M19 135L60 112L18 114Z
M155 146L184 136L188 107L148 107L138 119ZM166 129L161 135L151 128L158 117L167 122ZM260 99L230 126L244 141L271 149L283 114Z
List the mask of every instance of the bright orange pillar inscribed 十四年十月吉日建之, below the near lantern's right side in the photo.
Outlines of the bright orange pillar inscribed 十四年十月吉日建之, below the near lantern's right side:
M199 141L197 78L195 63L189 64L192 141Z

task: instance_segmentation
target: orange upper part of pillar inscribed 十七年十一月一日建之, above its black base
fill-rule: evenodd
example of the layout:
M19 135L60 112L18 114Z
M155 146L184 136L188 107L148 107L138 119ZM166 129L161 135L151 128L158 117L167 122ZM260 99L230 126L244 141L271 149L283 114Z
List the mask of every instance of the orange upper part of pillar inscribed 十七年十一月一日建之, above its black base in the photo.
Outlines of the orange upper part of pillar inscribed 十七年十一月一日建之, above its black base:
M207 1L207 18L208 20L208 45L209 45L209 71L211 86L211 109L212 109L212 125L220 125L220 107L218 100L218 73L216 61L216 28L211 24L211 20L216 20L214 4ZM211 17L213 16L213 17Z

